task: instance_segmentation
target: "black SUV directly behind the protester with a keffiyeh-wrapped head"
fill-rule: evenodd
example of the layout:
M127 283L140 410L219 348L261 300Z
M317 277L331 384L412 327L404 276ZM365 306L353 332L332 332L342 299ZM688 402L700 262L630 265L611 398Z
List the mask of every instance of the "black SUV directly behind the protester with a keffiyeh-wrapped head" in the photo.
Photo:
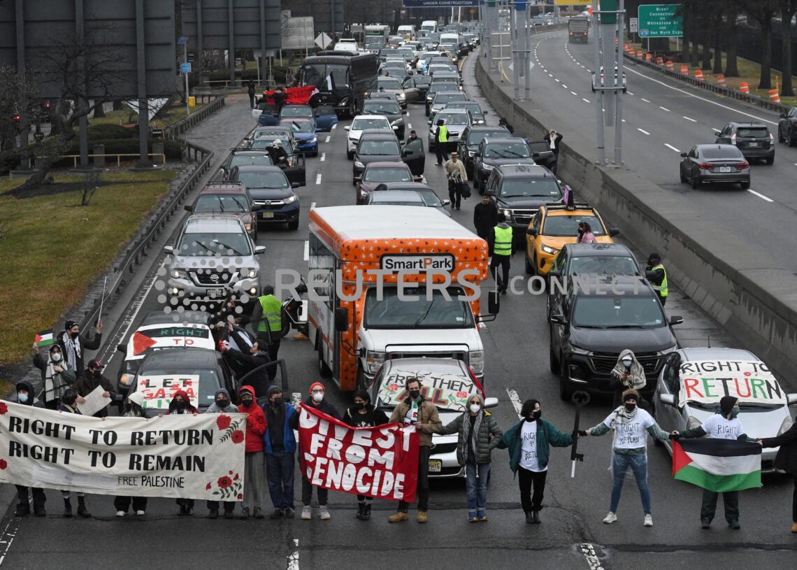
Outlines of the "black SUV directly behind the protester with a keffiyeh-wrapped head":
M650 398L665 357L677 349L673 324L667 320L656 292L642 277L571 281L567 293L552 307L551 371L559 375L559 395L573 391L612 394L610 373L622 350L634 351L647 380L642 395Z

